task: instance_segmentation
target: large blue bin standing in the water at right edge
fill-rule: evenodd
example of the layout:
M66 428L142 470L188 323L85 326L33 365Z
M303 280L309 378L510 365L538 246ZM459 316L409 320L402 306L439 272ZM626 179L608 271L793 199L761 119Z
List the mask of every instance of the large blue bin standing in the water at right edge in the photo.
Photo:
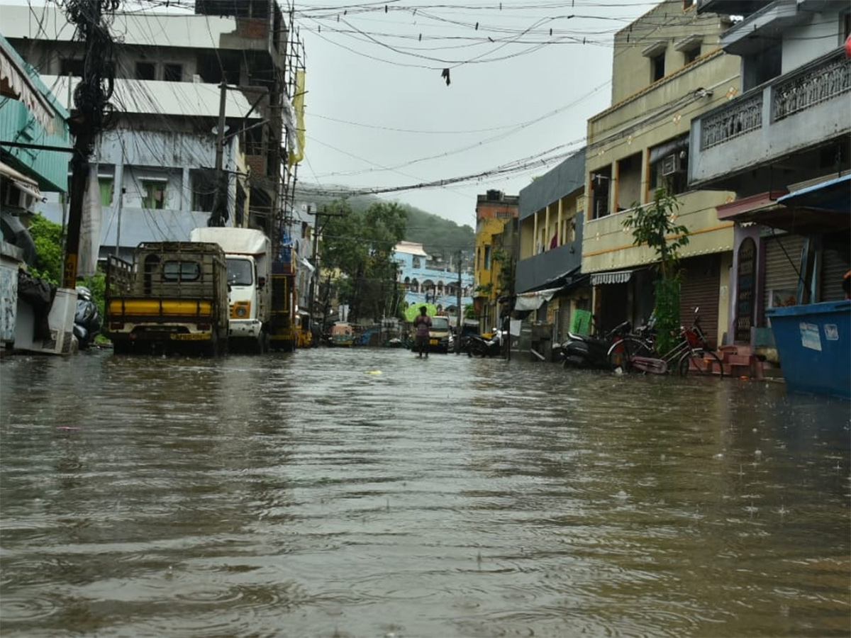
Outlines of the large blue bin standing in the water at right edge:
M786 388L851 399L851 301L765 311Z

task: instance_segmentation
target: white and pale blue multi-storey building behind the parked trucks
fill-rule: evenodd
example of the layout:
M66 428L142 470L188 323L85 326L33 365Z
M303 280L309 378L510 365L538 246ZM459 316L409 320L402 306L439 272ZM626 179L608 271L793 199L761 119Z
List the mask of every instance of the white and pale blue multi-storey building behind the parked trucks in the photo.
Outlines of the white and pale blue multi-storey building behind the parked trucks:
M70 110L85 63L74 27L54 5L2 11L9 41ZM193 14L119 13L111 32L121 34L109 62L114 110L92 157L101 255L128 253L141 241L186 240L193 227L208 225L217 197L226 199L219 208L225 225L261 228L279 245L292 107L288 26L277 2L204 0ZM54 202L44 213L59 221L63 206Z

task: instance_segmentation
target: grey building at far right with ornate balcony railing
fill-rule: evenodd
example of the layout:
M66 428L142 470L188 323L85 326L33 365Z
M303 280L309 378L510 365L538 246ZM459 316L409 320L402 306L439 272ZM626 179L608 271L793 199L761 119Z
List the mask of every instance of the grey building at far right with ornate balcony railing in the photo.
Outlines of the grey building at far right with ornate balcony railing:
M717 209L736 223L727 329L760 348L768 308L842 299L851 269L851 6L702 0L698 13L742 16L720 41L741 90L694 117L688 181L736 193Z

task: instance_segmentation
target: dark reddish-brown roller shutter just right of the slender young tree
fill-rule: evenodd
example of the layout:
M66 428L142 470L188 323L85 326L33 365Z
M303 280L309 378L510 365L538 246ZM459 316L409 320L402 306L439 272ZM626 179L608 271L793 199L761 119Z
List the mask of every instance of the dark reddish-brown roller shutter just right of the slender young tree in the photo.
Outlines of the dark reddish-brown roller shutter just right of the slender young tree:
M721 288L721 255L711 254L683 259L683 286L680 288L680 322L690 326L694 309L700 308L700 328L711 347L718 345L718 295Z

